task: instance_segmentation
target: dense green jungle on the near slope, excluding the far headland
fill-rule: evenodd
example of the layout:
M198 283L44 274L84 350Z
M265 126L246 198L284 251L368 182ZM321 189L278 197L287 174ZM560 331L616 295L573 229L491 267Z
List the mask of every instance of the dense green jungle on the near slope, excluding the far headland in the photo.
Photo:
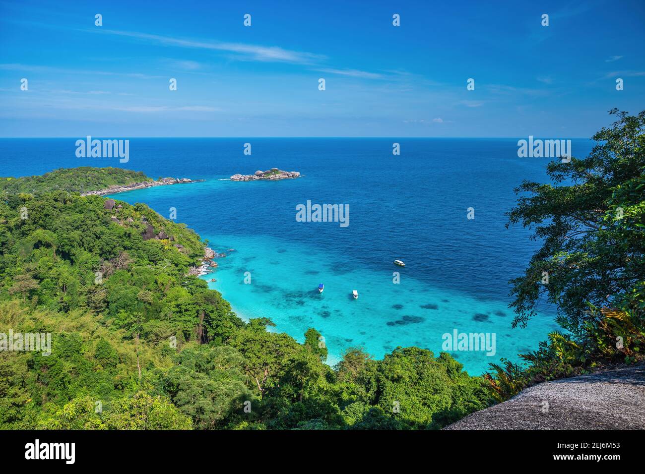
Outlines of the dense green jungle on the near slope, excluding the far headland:
M242 321L188 275L198 235L105 201L0 201L0 333L52 334L50 355L0 351L0 428L425 429L486 406L482 377L448 353L356 348L332 368L313 328L301 344Z

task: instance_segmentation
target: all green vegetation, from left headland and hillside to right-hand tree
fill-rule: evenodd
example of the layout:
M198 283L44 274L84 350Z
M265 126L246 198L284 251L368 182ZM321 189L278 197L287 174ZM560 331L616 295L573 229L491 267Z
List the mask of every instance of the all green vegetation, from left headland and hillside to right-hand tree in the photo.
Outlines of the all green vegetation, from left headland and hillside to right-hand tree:
M51 355L0 351L0 428L432 429L531 384L641 360L645 112L611 113L589 157L517 189L509 223L543 245L511 281L515 324L544 298L562 331L484 377L415 347L382 360L355 348L332 368L315 328L300 344L242 321L189 275L205 247L192 230L80 195L142 173L0 179L0 333L52 333Z

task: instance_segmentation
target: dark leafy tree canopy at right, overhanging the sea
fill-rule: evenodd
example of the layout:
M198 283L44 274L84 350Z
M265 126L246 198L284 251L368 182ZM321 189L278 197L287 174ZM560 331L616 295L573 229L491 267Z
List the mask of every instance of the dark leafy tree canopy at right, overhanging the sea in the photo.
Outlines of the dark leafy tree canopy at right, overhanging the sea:
M554 161L550 184L524 181L516 190L509 225L533 229L542 247L511 281L514 324L526 324L545 297L575 330L588 304L611 304L645 281L645 112L610 114L617 121L593 135L588 157Z

